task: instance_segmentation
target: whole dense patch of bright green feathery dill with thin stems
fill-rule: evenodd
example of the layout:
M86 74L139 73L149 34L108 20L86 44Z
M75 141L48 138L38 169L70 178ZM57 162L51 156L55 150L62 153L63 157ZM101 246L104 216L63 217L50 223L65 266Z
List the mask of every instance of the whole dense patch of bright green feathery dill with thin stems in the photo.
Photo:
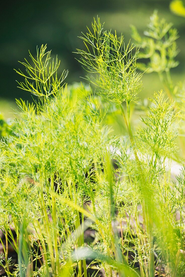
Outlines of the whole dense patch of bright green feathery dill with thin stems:
M4 275L185 276L185 92L170 75L178 35L156 12L144 35L132 27L140 49L125 45L94 19L76 52L89 87L64 84L68 71L58 78L46 46L21 63L19 87L38 98L17 100L0 142ZM157 72L166 93L153 94L135 127L137 67ZM111 110L124 121L121 137L106 124Z

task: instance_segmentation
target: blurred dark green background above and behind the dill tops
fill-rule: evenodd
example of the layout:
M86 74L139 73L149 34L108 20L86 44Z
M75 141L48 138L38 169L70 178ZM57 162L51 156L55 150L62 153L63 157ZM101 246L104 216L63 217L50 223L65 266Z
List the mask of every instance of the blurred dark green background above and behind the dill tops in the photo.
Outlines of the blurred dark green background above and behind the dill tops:
M169 9L169 0L69 0L69 1L5 1L1 7L1 43L0 43L0 66L1 66L1 90L0 112L5 117L11 108L15 107L15 98L28 99L29 93L17 88L16 79L20 76L13 70L20 68L18 63L28 58L29 53L36 53L37 45L48 45L52 49L52 55L58 55L61 60L60 71L68 69L67 83L81 81L80 76L85 72L75 60L72 53L75 48L83 47L77 36L81 31L86 31L86 25L90 26L93 17L97 15L101 22L105 22L105 29L116 29L117 34L123 33L125 43L128 43L130 25L137 27L140 34L147 28L149 17L154 9L158 10L159 16L167 22L173 22L179 31L177 40L180 52L177 59L180 65L172 70L174 82L183 81L185 73L185 17L173 14ZM158 76L144 74L143 90L140 98L146 98L162 88Z

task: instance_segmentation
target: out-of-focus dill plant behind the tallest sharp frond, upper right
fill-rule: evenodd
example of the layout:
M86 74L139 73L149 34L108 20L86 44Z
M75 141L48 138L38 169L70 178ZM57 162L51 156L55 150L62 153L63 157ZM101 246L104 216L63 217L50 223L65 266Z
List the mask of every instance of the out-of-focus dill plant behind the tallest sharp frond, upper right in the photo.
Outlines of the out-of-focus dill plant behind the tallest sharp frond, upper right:
M158 12L154 11L150 17L148 29L141 36L135 26L131 26L132 38L136 45L140 47L138 57L143 61L149 60L147 63L137 63L138 68L146 73L155 72L158 74L166 93L170 99L175 101L176 112L181 119L179 125L179 143L181 147L181 155L184 158L184 83L173 83L171 70L179 65L176 57L179 49L176 43L178 39L178 30L173 28L172 23L160 19Z

